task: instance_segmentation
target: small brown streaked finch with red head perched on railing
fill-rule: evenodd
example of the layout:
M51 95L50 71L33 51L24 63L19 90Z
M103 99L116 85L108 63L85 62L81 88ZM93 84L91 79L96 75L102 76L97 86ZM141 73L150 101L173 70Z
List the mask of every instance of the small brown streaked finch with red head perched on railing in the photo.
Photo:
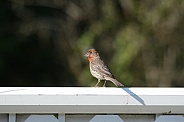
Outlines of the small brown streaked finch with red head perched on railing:
M114 78L110 69L107 67L107 65L105 65L103 60L100 58L99 53L95 49L88 50L85 56L88 57L91 74L98 79L95 87L98 86L100 80L105 80L103 85L104 87L106 80L113 82L117 87L124 86Z

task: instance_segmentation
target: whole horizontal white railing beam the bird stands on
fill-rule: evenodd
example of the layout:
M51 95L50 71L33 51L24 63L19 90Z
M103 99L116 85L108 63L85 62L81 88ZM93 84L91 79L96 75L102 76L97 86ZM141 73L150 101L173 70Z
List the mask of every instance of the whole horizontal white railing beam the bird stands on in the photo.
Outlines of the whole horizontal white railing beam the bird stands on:
M0 113L184 113L184 88L0 87L0 98Z

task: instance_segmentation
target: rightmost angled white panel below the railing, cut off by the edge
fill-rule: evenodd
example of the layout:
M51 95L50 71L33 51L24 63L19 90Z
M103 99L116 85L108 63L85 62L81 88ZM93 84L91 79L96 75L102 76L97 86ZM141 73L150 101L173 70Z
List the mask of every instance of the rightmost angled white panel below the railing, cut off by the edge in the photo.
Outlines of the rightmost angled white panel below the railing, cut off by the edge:
M161 115L155 122L184 122L182 115Z

